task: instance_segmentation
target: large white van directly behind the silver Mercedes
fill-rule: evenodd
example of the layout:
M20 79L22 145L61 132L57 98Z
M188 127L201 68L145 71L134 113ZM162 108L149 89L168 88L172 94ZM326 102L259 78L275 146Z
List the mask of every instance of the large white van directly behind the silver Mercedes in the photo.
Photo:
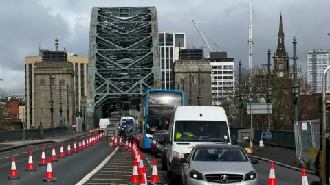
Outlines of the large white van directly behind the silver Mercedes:
M167 145L170 180L181 176L181 158L187 158L197 143L231 144L227 115L222 107L177 106L172 113ZM166 169L166 168L164 168Z

